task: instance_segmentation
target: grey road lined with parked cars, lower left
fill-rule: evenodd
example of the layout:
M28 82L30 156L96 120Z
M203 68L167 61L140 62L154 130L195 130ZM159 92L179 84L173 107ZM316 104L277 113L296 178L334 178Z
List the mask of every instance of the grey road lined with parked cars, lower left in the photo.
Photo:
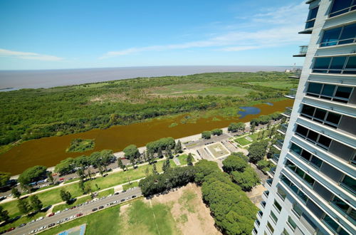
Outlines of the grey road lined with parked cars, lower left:
M32 224L27 224L22 228L16 228L13 231L10 231L6 234L29 234L34 229L38 229L41 226L48 226L48 224L57 223L57 221L69 218L70 216L75 216L76 214L82 213L83 216L92 213L93 208L98 208L100 206L105 206L106 204L110 204L110 202L119 201L121 203L121 199L132 199L132 196L136 195L136 197L140 197L142 195L140 188L134 188L127 190L127 192L120 192L118 195L112 195L111 197L105 197L104 199L99 199L96 202L90 202L89 204L83 205L81 207L76 207L74 209L69 209L68 211L62 211L60 214L53 215L51 217L45 217L41 221L33 222ZM115 205L115 204L114 204ZM111 206L110 206L111 207ZM106 208L106 207L104 207ZM103 209L101 209L103 210ZM99 209L98 209L99 211ZM95 213L95 212L94 212ZM73 219L71 219L73 220Z

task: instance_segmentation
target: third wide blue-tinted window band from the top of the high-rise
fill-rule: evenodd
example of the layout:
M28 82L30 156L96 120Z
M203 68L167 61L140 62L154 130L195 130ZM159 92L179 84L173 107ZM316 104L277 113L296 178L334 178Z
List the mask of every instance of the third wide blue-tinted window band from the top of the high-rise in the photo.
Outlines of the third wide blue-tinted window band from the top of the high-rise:
M313 73L356 74L355 60L356 56L318 57Z

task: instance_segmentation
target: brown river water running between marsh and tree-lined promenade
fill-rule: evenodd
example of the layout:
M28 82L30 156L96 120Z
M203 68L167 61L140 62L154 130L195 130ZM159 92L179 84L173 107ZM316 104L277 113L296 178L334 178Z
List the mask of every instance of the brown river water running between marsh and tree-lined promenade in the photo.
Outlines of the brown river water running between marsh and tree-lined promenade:
M219 117L219 121L213 121L214 117L200 118L195 123L180 124L184 115L172 118L155 119L149 122L134 123L131 125L116 125L105 130L94 129L61 137L45 137L38 140L23 142L0 155L0 172L20 174L24 169L35 165L53 167L67 157L90 155L99 150L113 150L119 152L127 145L145 146L147 142L162 137L185 137L199 134L204 130L227 127L231 122L248 122L260 115L268 115L276 111L284 111L286 107L293 106L293 100L274 102L273 106L267 104L254 105L261 113L246 115L243 118L230 117L229 120ZM169 127L173 122L179 123L175 127ZM74 138L95 139L95 148L86 152L66 152L70 141Z

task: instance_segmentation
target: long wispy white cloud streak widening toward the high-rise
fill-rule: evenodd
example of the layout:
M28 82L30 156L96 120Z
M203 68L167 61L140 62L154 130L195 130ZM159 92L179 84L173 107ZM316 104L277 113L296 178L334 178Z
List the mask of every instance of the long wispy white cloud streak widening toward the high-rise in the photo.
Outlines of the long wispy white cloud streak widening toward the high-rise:
M281 6L276 9L263 9L263 13L251 16L251 21L236 23L234 31L221 33L218 36L201 41L179 44L167 44L146 47L133 47L121 51L109 51L100 59L125 56L145 51L167 51L187 48L215 48L218 51L246 51L257 48L286 46L294 43L305 43L306 37L298 35L303 28L308 8L304 1L300 4ZM248 25L248 27L246 27ZM234 28L229 26L229 28ZM244 30L242 29L244 28ZM260 28L255 31L247 29ZM263 28L263 29L261 29Z

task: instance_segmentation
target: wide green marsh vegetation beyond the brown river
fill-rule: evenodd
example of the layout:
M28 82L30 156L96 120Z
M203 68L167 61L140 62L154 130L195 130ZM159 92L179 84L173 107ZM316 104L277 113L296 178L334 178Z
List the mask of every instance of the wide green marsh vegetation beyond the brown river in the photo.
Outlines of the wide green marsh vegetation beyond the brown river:
M0 93L0 150L24 140L167 115L192 113L182 123L201 112L236 115L239 105L282 98L297 85L286 73L202 73Z

